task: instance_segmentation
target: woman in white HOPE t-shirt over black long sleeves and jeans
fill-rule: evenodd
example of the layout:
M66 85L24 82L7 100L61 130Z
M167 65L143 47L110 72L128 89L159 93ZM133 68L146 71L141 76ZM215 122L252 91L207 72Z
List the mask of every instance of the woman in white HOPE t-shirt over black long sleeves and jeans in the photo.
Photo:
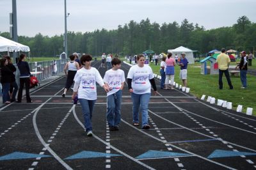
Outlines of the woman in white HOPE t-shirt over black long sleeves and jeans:
M150 100L151 85L156 95L156 82L152 69L144 65L145 57L143 54L137 56L138 65L130 68L127 75L127 84L132 97L133 125L139 125L139 110L142 117L142 128L148 129L148 102Z

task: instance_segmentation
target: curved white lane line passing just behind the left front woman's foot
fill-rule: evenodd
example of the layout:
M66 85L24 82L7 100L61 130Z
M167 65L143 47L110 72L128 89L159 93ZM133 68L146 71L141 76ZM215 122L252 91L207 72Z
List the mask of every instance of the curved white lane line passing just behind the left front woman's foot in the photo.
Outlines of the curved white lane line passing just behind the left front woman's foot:
M76 105L75 105L76 107ZM73 115L74 115L74 118L76 119L77 123L79 123L79 125L81 125L81 127L84 129L84 125L83 123L77 118L77 115L76 115L76 110L75 109L72 109L73 111ZM111 144L109 143L106 143L105 141L103 141L102 139L100 139L100 137L98 137L97 135L93 134L93 137L95 137L95 139L97 139L98 141L100 141L101 143L104 143L106 146L109 146L110 148L112 148L113 150L117 151L118 153L120 153L121 155L124 155L125 157L131 159L132 161L140 164L141 166L143 167L146 167L147 169L154 169L153 167L150 167L148 166L147 164L144 164L143 162L140 162L139 160L137 160L136 158L134 157L131 157L130 155L124 153L123 151L121 150L118 150L117 148L115 148L115 146L112 146Z

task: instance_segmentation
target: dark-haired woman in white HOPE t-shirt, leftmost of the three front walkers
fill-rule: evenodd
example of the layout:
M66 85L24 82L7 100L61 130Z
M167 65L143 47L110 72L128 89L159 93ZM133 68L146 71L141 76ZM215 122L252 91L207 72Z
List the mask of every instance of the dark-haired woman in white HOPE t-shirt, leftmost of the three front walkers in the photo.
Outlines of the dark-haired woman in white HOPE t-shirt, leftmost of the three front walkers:
M76 98L78 91L78 100L82 105L82 111L84 116L84 127L88 136L92 136L92 111L93 106L97 100L97 86L96 82L104 88L106 92L109 88L104 85L103 79L100 76L99 71L91 66L92 56L86 54L80 59L83 68L77 71L74 81L74 92L72 100Z

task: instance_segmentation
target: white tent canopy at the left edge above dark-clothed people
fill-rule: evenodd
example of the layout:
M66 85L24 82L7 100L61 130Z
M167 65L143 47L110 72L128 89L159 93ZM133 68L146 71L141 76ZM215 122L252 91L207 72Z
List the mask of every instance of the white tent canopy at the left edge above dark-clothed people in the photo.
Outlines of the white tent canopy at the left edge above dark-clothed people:
M7 38L4 38L3 36L0 36L0 52L17 52L17 51L23 51L23 52L29 52L30 49L26 45L22 45L21 43L13 42L12 40L9 40Z

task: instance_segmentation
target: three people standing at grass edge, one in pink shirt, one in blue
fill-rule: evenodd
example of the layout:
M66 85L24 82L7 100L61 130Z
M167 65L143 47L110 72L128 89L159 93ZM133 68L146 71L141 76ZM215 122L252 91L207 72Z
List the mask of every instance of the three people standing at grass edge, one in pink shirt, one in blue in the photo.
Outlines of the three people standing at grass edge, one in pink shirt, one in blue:
M177 55L177 54L176 54ZM167 58L163 56L161 61L161 68L160 68L160 74L161 74L161 89L174 89L173 88L173 82L174 82L174 75L175 75L175 65L180 66L180 79L182 80L183 86L187 86L187 67L188 67L188 59L186 59L186 53L181 53L181 59L179 63L176 61L176 55L175 59L172 58L172 53L170 52L167 55ZM169 88L168 86L171 86Z

